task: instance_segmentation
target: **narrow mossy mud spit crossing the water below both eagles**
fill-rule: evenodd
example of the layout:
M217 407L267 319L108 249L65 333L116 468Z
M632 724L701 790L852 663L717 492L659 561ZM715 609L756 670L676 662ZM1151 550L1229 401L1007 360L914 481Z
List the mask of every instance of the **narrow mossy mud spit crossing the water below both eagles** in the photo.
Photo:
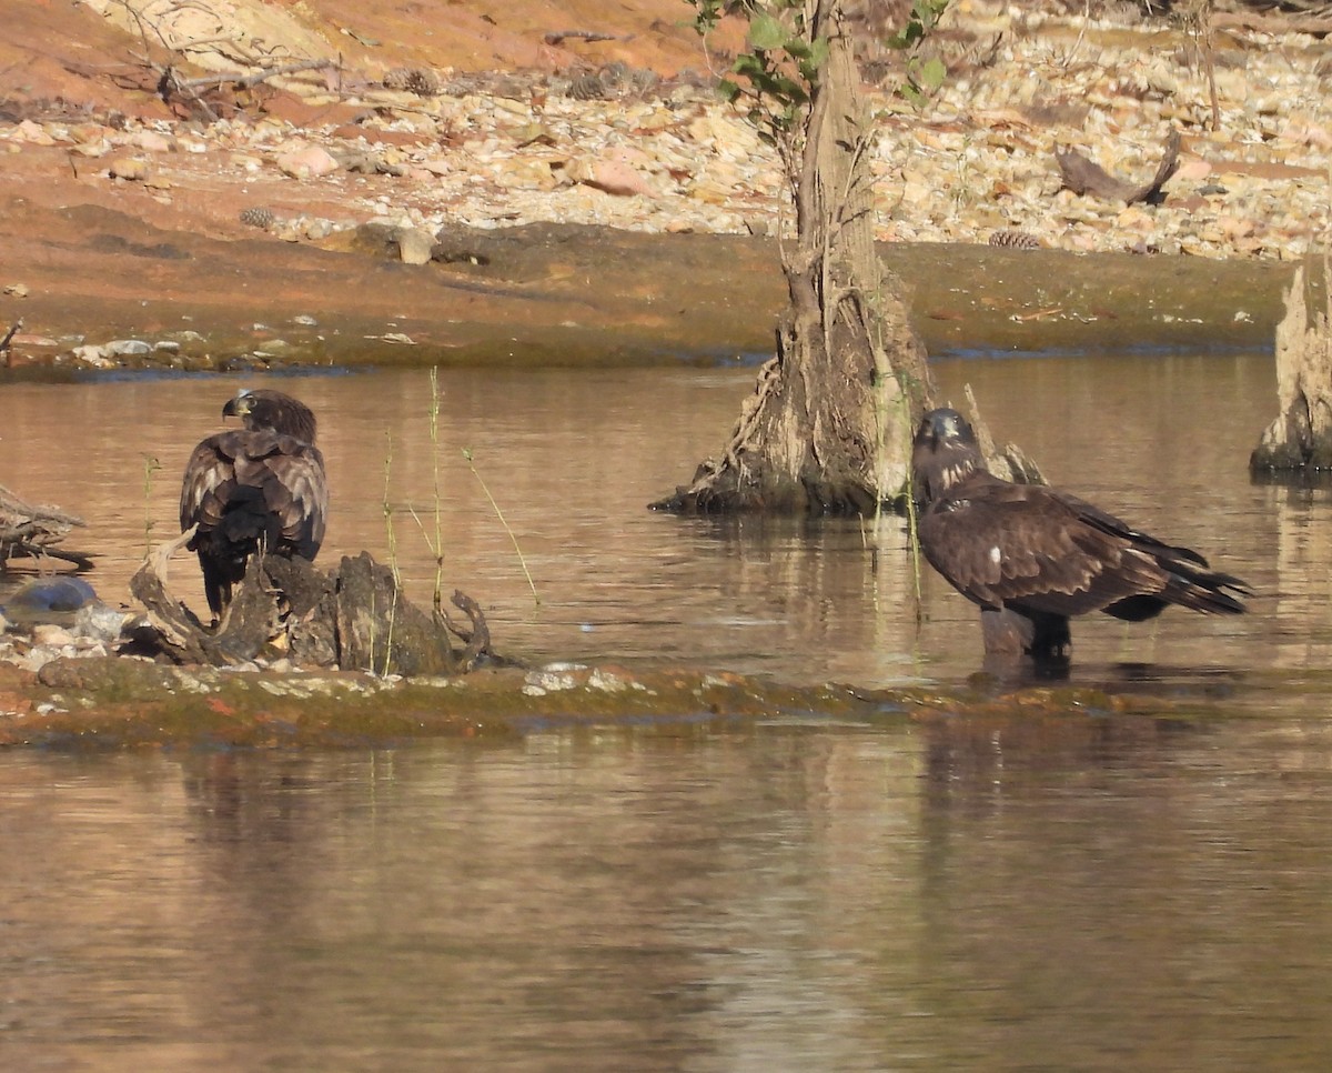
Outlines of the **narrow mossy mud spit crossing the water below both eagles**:
M1216 713L1200 698L1070 685L1007 689L984 676L956 688L859 690L614 665L393 681L348 672L173 668L123 657L55 660L37 673L0 668L0 746L11 748L364 748L503 741L578 728L691 736L750 732L774 720L867 725L967 716L1060 725L1110 714L1179 720Z

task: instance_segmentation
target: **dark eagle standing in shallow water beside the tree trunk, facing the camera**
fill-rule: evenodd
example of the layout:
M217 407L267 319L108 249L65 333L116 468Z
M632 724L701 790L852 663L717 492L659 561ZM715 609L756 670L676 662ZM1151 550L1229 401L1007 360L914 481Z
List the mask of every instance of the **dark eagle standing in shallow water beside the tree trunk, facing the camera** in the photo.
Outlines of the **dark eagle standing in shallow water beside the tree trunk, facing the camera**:
M927 413L912 448L920 550L980 605L990 654L1066 658L1068 618L1092 610L1130 622L1169 604L1244 612L1231 593L1247 594L1245 584L1211 570L1197 552L1140 533L1066 492L990 475L956 411Z

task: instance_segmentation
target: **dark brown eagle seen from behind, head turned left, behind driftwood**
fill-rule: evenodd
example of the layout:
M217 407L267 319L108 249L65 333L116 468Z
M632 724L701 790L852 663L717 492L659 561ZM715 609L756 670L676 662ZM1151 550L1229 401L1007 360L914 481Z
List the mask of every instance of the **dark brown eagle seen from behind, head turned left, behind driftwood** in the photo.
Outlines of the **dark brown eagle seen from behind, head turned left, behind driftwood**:
M276 391L241 391L222 416L245 427L196 447L180 489L180 529L198 527L186 546L198 553L214 616L260 549L313 561L328 516L324 456L306 405Z

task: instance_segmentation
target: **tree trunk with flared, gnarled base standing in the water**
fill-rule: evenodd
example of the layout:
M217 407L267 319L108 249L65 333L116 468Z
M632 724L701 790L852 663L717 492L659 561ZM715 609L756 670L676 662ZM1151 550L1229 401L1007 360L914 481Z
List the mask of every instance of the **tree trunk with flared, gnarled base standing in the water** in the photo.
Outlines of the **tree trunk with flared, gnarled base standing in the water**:
M681 513L872 513L903 489L930 393L902 283L874 251L872 124L858 95L842 0L815 5L829 60L787 156L797 243L777 353L721 459L654 503Z

